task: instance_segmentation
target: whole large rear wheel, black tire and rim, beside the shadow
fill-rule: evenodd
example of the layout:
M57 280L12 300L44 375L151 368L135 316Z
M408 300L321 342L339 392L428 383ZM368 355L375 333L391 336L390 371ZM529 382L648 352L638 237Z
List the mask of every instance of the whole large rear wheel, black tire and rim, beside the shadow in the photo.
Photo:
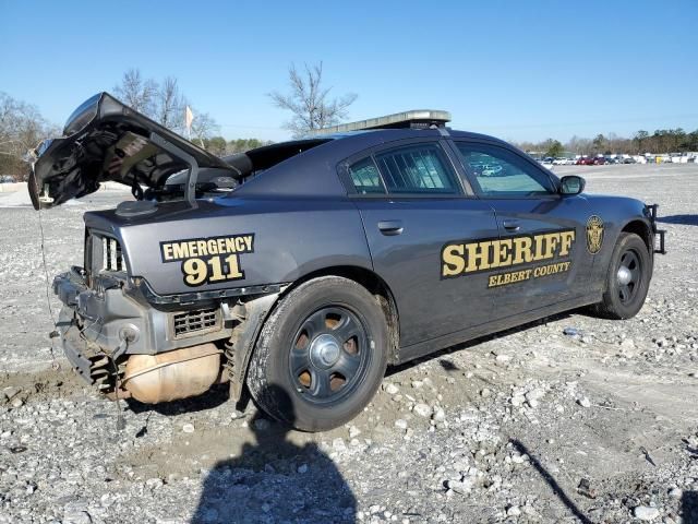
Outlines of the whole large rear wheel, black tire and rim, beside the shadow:
M281 422L303 431L336 428L373 398L387 341L383 309L364 287L338 276L309 281L284 297L262 327L248 388Z

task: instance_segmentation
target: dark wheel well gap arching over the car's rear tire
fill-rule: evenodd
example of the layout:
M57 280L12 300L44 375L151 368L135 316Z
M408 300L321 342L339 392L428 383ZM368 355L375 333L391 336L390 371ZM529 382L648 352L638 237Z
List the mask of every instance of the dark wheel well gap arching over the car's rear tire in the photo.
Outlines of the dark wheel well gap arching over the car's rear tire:
M398 361L398 348L400 347L399 315L393 291L390 291L390 288L385 283L385 281L371 270L366 270L364 267L338 265L333 267L325 267L323 270L318 270L302 276L298 281L293 282L293 284L290 285L287 289L285 289L284 295L288 294L291 289L300 286L304 282L311 281L313 278L318 278L321 276L341 276L344 278L349 278L350 281L354 281L356 283L361 284L369 290L369 293L375 296L376 300L381 305L381 308L383 308L383 312L388 324L388 337L390 341L388 364L396 364Z

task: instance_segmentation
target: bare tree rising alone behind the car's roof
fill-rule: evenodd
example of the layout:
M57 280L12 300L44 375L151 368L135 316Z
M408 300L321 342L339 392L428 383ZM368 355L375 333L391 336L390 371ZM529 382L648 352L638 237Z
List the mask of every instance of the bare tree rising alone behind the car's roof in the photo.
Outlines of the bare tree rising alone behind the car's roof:
M305 134L313 129L335 126L347 118L347 108L357 99L356 94L347 94L339 98L330 98L332 87L323 86L323 62L299 71L296 64L288 70L290 93L274 91L268 96L274 105L293 114L284 126L294 136Z

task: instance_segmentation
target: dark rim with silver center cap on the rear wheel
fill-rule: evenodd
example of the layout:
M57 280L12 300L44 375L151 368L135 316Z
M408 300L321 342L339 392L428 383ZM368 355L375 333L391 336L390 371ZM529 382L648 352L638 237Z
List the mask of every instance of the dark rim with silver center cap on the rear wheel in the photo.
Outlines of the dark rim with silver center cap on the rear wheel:
M357 314L341 306L321 308L291 341L293 386L312 404L336 403L361 383L370 356L366 327Z

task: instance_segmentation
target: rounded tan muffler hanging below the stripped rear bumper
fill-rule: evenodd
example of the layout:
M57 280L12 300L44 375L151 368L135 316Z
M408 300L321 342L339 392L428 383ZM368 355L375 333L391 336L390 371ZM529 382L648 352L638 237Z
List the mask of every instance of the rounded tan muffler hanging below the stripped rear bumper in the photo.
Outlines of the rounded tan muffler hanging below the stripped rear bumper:
M122 388L144 404L201 395L219 377L221 353L209 343L158 355L131 355Z

